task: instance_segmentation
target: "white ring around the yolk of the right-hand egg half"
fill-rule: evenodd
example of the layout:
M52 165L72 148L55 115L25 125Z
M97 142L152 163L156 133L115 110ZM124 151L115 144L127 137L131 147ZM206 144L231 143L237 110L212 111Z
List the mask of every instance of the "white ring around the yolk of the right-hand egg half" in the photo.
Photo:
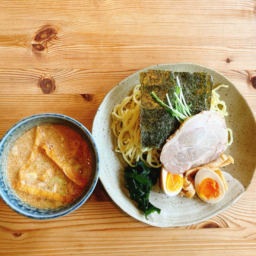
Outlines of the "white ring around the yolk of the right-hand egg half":
M211 178L213 180L215 180L218 184L219 184L219 188L220 188L220 196L215 198L215 199L205 199L203 197L200 196L200 192L198 189L198 186L201 184L202 180L206 179L206 178ZM203 168L201 170L199 170L196 173L196 177L195 177L195 188L196 188L196 194L206 203L209 204L214 204L220 201L220 199L223 198L223 196L225 195L225 187L223 184L223 181L221 180L220 176L212 171L211 169L208 168Z

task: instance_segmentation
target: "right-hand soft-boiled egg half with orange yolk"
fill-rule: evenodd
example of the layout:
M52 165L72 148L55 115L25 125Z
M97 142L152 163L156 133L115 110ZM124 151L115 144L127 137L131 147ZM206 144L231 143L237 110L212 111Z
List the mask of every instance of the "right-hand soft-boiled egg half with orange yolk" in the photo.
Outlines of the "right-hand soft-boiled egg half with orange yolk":
M196 194L206 203L214 204L225 195L225 188L220 176L211 169L203 168L196 173Z

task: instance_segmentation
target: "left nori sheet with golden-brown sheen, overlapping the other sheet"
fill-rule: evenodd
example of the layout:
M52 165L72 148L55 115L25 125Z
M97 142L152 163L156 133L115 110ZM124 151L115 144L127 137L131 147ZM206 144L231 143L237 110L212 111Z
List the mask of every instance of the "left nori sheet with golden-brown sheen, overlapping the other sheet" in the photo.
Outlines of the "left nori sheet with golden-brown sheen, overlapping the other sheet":
M179 128L179 123L153 100L150 93L155 92L167 104L165 94L173 94L176 79L173 72L149 70L140 73L140 83L141 146L159 148Z

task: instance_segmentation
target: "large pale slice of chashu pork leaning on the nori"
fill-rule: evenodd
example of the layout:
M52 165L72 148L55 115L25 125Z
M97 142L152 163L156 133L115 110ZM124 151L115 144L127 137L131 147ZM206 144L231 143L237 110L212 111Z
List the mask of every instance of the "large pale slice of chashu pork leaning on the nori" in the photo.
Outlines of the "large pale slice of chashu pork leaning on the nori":
M220 157L228 141L226 128L225 119L214 110L186 119L162 149L160 161L166 171L180 174Z

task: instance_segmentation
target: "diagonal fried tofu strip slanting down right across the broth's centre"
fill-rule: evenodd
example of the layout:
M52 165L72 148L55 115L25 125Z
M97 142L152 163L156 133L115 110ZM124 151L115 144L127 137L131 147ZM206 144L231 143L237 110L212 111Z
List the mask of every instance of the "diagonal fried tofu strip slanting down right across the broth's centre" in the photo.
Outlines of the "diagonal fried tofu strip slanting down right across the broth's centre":
M41 146L45 150L45 153L47 156L49 156L52 161L57 164L63 172L66 174L66 176L70 179L73 180L78 186L84 188L88 182L88 178L83 178L73 167L70 163L66 161L60 160L60 157L56 154L55 150L53 148L49 149L46 144L43 144Z

